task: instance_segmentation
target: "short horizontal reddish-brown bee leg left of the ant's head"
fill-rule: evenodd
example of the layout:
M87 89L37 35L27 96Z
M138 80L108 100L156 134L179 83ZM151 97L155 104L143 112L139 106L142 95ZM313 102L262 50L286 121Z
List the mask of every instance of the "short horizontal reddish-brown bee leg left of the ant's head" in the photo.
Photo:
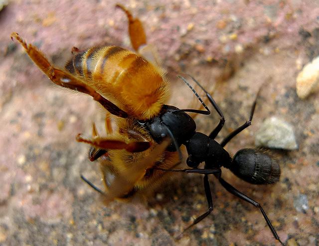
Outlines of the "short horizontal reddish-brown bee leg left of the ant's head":
M95 139L89 140L89 139L82 138L81 134L77 135L76 141L91 144L94 147L98 147L105 150L125 149L128 152L132 152L132 153L145 151L151 146L150 142L132 142L127 144L120 140L104 139L104 138L95 138Z

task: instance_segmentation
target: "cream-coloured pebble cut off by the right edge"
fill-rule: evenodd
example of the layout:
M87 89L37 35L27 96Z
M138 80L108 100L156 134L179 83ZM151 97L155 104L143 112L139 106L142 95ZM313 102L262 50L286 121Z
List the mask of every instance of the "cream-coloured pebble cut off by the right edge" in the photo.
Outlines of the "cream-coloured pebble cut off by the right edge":
M319 56L306 64L297 76L297 95L305 99L311 93L319 90Z

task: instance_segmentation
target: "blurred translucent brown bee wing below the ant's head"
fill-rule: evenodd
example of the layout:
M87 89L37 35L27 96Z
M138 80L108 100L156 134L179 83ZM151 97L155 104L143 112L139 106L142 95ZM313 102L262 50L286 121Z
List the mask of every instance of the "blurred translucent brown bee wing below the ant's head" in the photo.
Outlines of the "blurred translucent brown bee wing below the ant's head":
M105 193L105 202L111 202L115 198L123 197L129 193L136 182L144 177L145 171L154 165L154 162L160 157L160 154L169 144L170 140L165 139L161 144L157 145L148 156L134 163L134 165L129 165L129 168L114 177L112 184Z

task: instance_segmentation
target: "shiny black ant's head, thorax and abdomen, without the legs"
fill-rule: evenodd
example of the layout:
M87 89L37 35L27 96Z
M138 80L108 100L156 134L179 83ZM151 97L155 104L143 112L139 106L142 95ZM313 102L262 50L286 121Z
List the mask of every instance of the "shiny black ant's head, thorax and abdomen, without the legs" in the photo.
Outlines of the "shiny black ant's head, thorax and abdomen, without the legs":
M250 122L245 124L249 126ZM175 144L172 142L167 148L168 151L177 151L177 147L179 149L182 144L185 145L188 153L186 163L191 168L197 168L202 162L205 163L205 169L225 167L251 184L273 184L279 180L279 165L267 154L253 149L242 149L232 159L223 148L225 142L221 145L210 136L196 132L195 121L174 106L163 105L160 115L141 125L157 143L161 143L167 136L172 136Z

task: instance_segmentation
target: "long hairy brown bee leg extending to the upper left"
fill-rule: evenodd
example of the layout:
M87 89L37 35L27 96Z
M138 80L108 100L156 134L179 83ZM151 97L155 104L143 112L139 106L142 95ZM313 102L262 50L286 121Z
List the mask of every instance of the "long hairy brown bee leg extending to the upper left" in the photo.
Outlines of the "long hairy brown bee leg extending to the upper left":
M60 70L54 67L47 58L45 58L44 54L39 51L32 44L27 44L19 34L13 32L11 34L11 38L15 38L25 49L27 54L33 60L33 62L48 76L48 78L55 84L60 85L65 88L69 88L72 90L76 90L79 92L86 93L93 97L94 100L98 101L105 109L107 109L111 114L114 114L119 117L126 118L128 114L121 110L114 103L102 97L99 93L97 93L93 88L83 83L78 78L74 77L72 74Z

